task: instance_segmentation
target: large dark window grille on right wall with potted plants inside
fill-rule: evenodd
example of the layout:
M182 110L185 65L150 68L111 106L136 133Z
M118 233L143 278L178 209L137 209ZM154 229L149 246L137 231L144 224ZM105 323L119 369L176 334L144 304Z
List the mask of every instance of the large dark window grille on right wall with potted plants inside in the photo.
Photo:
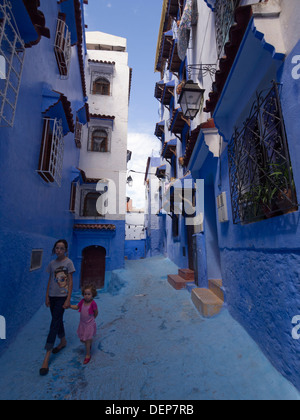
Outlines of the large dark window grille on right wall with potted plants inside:
M298 210L279 89L257 94L228 146L233 222L252 223Z

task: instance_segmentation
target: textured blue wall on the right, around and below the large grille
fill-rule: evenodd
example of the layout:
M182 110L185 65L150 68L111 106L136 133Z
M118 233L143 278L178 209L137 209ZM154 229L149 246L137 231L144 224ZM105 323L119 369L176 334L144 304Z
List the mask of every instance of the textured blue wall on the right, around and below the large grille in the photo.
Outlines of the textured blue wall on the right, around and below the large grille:
M299 50L300 44L277 73L277 80L282 83L281 103L298 201L300 81L294 80L291 73L292 57L298 55ZM276 78L276 74L269 73L268 80L274 76ZM257 80L258 89L266 80ZM299 212L259 223L234 225L227 149L221 156L214 182L215 190L226 191L228 197L230 222L218 224L218 239L229 310L276 368L300 389L300 341L292 338L292 319L300 314Z

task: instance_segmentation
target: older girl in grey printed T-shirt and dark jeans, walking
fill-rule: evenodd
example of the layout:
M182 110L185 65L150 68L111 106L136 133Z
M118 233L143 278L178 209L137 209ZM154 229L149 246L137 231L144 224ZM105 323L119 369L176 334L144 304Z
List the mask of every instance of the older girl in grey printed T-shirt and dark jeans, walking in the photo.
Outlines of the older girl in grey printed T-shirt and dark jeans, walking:
M46 293L46 306L50 307L52 322L45 346L46 356L40 369L41 376L45 376L49 372L51 353L56 354L67 345L63 316L65 309L70 308L73 273L75 272L74 264L67 257L67 252L67 241L65 239L57 241L52 250L52 255L56 255L56 259L51 261L47 267L49 281ZM61 342L58 347L53 348L57 336Z

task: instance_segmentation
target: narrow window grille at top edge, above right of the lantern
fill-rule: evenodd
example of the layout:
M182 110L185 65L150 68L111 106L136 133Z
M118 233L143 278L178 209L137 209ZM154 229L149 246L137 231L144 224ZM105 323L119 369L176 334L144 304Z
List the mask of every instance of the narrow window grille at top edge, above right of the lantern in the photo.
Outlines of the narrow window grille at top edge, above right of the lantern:
M234 24L234 12L240 0L216 0L215 21L218 57L224 53L224 47L229 39L229 31Z

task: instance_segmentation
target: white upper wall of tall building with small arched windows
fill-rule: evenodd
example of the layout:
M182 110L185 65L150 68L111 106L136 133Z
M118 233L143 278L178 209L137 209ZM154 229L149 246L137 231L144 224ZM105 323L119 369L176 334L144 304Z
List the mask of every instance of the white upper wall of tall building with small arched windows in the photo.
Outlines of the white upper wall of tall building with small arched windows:
M124 220L126 213L126 169L127 169L127 133L128 133L128 103L129 77L127 41L102 32L87 32L86 85L90 114L114 116L111 136L111 149L107 153L90 152L87 150L88 129L85 129L79 167L85 171L88 178L105 178L110 180L108 200L116 200L116 214L106 216L108 220ZM101 45L107 49L95 50ZM110 96L93 95L91 93L91 65L88 60L115 62L112 75ZM92 65L93 66L93 65ZM93 66L94 67L94 66ZM111 67L111 66L110 66ZM101 67L105 72L105 66ZM91 126L91 122L89 126Z

